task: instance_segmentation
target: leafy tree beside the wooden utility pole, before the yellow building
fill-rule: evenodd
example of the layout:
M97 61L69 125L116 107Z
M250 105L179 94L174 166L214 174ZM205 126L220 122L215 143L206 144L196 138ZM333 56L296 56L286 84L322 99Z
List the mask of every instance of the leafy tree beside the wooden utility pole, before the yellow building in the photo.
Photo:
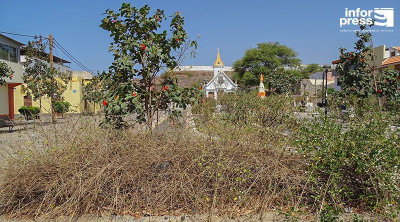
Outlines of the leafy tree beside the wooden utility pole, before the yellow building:
M39 39L28 41L25 46L26 62L24 64L24 73L22 75L23 84L21 90L32 99L39 100L40 120L42 98L50 99L51 104L51 121L55 122L54 101L62 100L62 93L66 89L66 83L69 77L60 72L57 68L50 68L49 57L45 53L46 39L41 36Z

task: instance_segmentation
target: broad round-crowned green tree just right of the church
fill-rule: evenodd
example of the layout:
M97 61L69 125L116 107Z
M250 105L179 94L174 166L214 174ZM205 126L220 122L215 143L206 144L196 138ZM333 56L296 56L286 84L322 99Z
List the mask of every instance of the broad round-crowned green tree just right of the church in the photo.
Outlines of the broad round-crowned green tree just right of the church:
M244 85L258 85L261 73L269 90L286 87L284 82L293 82L293 73L284 71L284 66L300 64L298 53L279 42L257 43L256 48L245 50L242 58L233 63L233 78ZM282 84L283 83L283 84Z

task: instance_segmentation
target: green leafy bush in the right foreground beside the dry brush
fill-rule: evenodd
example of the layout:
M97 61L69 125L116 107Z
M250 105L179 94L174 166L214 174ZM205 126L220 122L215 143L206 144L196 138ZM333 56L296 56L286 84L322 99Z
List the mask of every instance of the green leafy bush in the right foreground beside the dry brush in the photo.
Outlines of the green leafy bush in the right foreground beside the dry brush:
M308 158L316 202L374 210L400 200L400 131L373 108L346 124L321 114L299 127L294 144Z

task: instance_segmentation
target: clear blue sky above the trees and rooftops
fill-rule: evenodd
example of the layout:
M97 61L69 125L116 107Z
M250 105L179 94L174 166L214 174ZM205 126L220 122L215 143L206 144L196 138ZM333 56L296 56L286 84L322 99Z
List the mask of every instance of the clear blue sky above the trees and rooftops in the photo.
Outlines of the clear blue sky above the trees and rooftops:
M98 25L106 8L117 9L122 2L149 4L152 9L164 9L166 15L181 12L188 35L200 34L196 58L185 59L184 65L212 65L217 47L225 65L231 65L246 48L263 41L294 48L302 63L329 63L337 58L340 46L351 48L356 40L353 32L339 31L346 7L393 7L394 31L375 32L373 39L375 45L400 46L399 0L4 0L0 31L51 33L91 70L107 70L112 61L107 51L111 39ZM59 55L57 50L55 55ZM81 70L76 64L71 68Z

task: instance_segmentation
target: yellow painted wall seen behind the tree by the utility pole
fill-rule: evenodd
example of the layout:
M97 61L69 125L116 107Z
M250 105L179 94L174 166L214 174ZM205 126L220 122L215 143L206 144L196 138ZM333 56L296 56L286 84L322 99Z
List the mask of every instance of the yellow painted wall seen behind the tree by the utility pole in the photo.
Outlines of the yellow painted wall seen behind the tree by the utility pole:
M72 80L69 81L66 86L66 90L62 94L64 100L71 104L69 113L82 113L84 112L84 103L83 103L83 88L82 88L82 79L81 77L72 77ZM87 81L87 80L84 80ZM17 86L14 89L14 109L15 114L19 114L18 108L23 106L23 96L25 94L21 94L21 87ZM50 101L48 98L44 97L41 101L42 104L42 113L50 113ZM39 107L39 101L32 100L32 106ZM8 106L7 106L8 108ZM94 107L94 104L89 104L88 111L92 111L96 113L100 110L100 106Z

